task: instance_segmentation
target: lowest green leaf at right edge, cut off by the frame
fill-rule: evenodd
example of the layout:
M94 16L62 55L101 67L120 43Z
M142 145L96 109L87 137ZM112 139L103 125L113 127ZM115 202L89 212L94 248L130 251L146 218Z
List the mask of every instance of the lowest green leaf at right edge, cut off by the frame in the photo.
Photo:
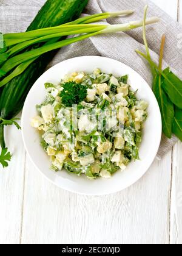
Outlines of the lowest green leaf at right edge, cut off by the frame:
M182 110L175 108L172 132L182 141Z

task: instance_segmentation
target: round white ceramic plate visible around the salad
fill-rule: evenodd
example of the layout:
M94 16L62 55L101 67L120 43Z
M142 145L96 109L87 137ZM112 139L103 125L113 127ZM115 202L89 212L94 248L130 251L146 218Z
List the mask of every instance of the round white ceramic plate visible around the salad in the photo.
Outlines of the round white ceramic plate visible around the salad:
M37 115L36 104L41 104L45 99L45 82L56 84L68 73L74 71L93 73L95 68L100 68L104 73L114 74L116 77L129 74L129 84L132 86L132 90L138 90L138 99L149 102L149 117L143 130L143 141L140 147L141 160L130 163L126 171L118 171L110 179L89 180L84 175L78 177L64 170L59 172L50 170L50 158L41 148L38 132L30 126L30 119ZM47 179L58 187L89 195L115 193L124 190L140 179L157 155L161 140L160 109L149 85L129 66L104 57L77 57L53 66L35 82L27 96L22 112L22 137L32 162Z

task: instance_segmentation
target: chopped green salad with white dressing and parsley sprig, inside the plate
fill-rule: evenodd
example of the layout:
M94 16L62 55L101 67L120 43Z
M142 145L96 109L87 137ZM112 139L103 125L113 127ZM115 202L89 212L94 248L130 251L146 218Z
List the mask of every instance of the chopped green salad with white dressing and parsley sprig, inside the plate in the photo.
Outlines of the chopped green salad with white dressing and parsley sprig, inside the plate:
M32 118L51 168L89 179L109 178L139 160L147 102L136 98L128 76L95 69L75 72L60 84L45 84L47 96Z

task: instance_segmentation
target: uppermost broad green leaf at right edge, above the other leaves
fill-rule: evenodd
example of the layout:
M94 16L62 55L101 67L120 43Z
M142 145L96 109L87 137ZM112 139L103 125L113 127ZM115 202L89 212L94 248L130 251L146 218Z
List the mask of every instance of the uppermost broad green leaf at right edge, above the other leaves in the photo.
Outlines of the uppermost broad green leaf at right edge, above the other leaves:
M182 80L180 80L170 68L163 71L164 81L163 88L169 96L170 101L178 108L182 109Z

